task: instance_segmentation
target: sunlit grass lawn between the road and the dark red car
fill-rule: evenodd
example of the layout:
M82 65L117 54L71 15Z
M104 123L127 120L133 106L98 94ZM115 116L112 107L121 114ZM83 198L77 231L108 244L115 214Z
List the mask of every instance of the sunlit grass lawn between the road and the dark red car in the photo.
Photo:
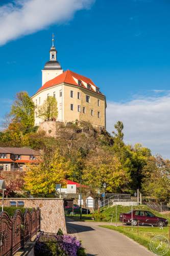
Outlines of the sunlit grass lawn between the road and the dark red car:
M164 236L166 238L169 237L169 226L163 227L160 229L159 227L139 227L139 234L138 234L138 227L131 226L110 226L110 225L100 225L100 227L109 228L116 230L120 233L125 234L127 237L133 239L137 243L147 247L150 250L150 241L155 236ZM165 255L170 256L170 251L168 251Z

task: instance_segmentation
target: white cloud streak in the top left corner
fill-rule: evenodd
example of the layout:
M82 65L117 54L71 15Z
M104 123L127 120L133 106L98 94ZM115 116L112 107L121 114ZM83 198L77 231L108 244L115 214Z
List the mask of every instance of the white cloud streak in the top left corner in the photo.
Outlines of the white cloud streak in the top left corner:
M14 0L0 7L0 45L34 33L52 24L61 24L95 0Z

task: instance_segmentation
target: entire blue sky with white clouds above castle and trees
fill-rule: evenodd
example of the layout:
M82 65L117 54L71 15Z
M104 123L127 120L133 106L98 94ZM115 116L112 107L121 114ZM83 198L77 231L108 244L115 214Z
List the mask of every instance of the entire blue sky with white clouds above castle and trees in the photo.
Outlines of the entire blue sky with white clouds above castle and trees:
M42 3L39 10L41 17L36 12L27 11L35 9L38 1L0 2L0 30L3 29L0 35L0 118L9 111L18 91L25 90L33 95L41 86L41 69L49 58L51 37L55 33L62 68L92 78L106 95L108 130L113 130L117 119L125 120L127 142L141 142L151 147L154 154L170 157L169 143L165 146L163 141L166 138L167 143L170 126L167 121L167 110L170 110L169 1L79 0L82 6L78 7L78 0L47 1L49 5L58 2L62 7L58 10L58 5L54 6L58 18L50 17L52 10L45 7L47 2L44 0L41 0L45 4ZM72 5L67 8L69 4ZM22 11L20 20L12 16L16 10ZM60 17L61 12L64 18ZM136 122L138 109L142 106L143 122ZM154 121L150 123L153 116ZM159 118L163 118L161 127ZM139 126L143 129L135 137ZM165 137L155 142L162 133Z

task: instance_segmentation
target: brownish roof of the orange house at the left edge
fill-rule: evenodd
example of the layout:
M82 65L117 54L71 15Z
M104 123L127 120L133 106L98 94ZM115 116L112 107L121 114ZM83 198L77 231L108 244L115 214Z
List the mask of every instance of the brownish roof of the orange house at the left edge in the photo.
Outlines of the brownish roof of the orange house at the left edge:
M0 153L14 154L14 155L34 155L37 156L37 152L31 148L25 147L0 147Z

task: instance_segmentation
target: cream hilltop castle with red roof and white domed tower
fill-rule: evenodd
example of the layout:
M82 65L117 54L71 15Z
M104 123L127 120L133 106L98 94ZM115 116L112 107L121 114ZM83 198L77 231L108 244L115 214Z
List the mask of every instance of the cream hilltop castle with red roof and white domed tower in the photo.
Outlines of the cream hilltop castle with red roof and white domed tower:
M38 117L38 108L48 96L55 97L58 102L58 118L55 121L87 121L96 127L106 127L105 95L90 78L70 70L63 71L57 60L54 38L50 61L42 70L42 86L32 96L36 126L45 121Z

